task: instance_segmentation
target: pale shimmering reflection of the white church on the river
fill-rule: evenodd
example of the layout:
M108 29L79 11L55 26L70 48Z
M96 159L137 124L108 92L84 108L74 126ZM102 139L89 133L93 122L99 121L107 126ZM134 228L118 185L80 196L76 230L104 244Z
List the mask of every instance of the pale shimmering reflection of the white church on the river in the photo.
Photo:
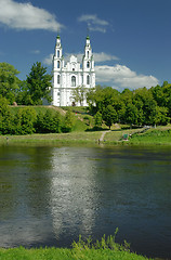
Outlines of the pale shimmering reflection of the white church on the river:
M82 153L83 152L83 153ZM92 234L97 207L92 151L55 148L52 157L51 207L56 237Z

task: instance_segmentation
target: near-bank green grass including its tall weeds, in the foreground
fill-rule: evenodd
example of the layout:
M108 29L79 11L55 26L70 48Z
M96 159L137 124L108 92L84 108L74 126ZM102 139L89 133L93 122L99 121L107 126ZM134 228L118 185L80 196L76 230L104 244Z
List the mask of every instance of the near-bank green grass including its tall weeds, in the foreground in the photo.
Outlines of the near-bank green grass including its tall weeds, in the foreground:
M115 233L116 234L116 233ZM73 248L31 248L24 247L0 249L1 260L145 260L146 257L130 252L129 244L123 245L115 243L115 236L105 235L102 240L92 243L90 238L87 242L79 237L79 242L73 243Z

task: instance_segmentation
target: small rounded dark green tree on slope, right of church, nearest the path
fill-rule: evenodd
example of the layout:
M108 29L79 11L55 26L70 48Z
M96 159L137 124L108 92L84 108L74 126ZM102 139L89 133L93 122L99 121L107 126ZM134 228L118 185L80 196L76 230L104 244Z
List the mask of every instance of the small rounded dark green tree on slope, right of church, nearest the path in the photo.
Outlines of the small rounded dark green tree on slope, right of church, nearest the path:
M110 129L110 127L113 126L114 122L117 122L118 115L117 115L116 109L111 105L108 105L104 109L103 119L104 119L106 126L109 127L109 129Z

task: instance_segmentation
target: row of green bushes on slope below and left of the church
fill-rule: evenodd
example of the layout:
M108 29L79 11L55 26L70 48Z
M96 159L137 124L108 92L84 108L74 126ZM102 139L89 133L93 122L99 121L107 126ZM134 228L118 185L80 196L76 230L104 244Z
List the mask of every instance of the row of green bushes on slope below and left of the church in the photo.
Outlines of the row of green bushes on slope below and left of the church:
M11 109L5 98L0 95L0 134L32 134L70 132L75 117L70 110L65 116L52 108L36 113L32 107Z

